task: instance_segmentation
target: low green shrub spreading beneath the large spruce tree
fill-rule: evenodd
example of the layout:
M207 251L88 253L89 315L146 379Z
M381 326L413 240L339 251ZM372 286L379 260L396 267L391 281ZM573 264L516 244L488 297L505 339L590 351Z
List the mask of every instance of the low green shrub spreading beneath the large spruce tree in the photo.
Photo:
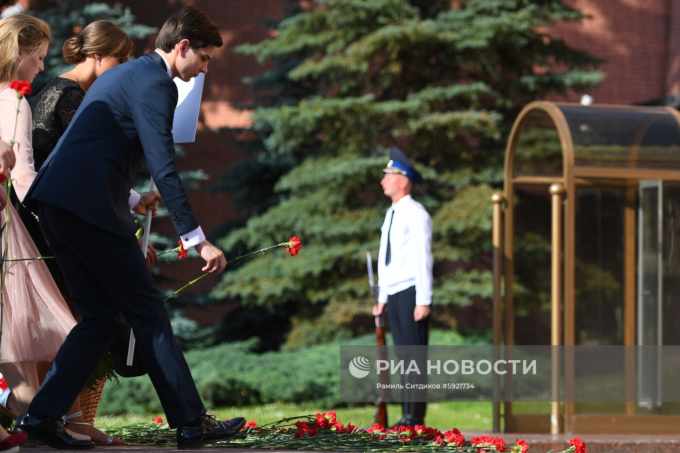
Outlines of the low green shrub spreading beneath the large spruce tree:
M388 335L388 343L391 343ZM486 335L463 337L454 331L432 331L430 344L487 344ZM224 343L186 352L194 382L208 407L265 403L318 403L337 407L340 402L341 344L375 344L373 335L338 339L303 350L251 352L256 340ZM107 384L99 414L148 414L162 408L148 376Z

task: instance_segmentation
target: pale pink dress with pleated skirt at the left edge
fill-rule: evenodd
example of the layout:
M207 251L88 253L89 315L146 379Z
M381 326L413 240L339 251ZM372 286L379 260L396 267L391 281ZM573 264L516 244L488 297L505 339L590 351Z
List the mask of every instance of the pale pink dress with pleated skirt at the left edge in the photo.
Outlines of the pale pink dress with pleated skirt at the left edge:
M9 142L14 135L16 118L16 165L12 169L12 185L19 199L24 199L35 178L31 146L31 107L26 99L16 115L16 91L0 90L0 138ZM5 189L0 187L5 199ZM7 258L39 256L23 222L12 207L0 212L0 224L5 224L6 209L10 209L9 245ZM5 233L7 230L5 230ZM1 238L5 244L5 234ZM52 360L75 325L52 275L44 261L14 261L7 263L2 309L0 363L29 360Z

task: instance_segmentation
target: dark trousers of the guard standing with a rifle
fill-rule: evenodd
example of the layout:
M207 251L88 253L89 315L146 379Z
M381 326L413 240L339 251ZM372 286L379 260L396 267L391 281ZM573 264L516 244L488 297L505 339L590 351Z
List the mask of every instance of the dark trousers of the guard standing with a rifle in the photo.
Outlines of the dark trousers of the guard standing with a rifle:
M396 346L396 354L401 360L409 363L415 360L422 375L402 375L402 385L405 387L403 395L403 418L423 423L425 418L426 403L424 390L416 392L406 388L407 384L427 384L427 356L411 356L410 351L404 352L398 346L426 346L430 333L430 317L424 320L413 320L415 310L415 286L388 296L388 317L390 318L390 331L392 341Z

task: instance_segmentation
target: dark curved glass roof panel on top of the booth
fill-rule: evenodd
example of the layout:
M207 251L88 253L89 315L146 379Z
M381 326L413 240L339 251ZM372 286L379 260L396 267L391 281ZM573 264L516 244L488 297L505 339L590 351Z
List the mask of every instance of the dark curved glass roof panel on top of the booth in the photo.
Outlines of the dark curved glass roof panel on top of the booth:
M560 105L577 167L680 169L680 127L667 110Z

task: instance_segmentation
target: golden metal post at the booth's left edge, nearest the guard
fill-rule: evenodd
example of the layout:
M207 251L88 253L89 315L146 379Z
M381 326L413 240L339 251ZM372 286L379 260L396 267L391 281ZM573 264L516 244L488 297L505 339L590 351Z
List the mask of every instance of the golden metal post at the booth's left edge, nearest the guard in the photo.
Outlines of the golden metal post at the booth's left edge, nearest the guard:
M500 192L491 196L493 203L493 227L492 242L494 245L494 304L492 307L492 319L494 329L494 363L500 359L500 279L502 277L503 246L501 237L503 232L503 203L505 198ZM500 375L494 374L494 433L500 432Z

